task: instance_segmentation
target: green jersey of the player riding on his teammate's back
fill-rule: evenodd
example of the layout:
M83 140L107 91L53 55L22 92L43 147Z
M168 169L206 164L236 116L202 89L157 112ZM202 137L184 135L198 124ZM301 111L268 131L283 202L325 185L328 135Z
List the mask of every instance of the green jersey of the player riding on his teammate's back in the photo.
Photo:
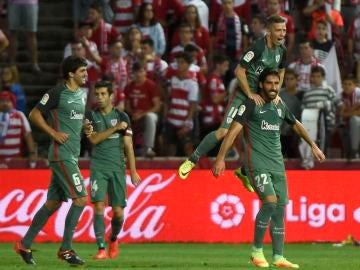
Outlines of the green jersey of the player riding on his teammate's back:
M246 69L250 89L257 91L259 76L265 69L282 69L286 67L286 48L283 45L268 48L266 38L262 37L242 55L240 65ZM239 95L245 96L241 91Z

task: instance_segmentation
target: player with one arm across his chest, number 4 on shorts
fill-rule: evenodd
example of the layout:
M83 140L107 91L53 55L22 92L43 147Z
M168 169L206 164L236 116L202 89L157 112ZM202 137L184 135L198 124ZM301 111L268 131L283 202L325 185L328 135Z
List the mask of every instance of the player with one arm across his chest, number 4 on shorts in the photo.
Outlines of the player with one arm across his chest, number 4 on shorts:
M132 183L137 186L140 177L136 172L130 120L126 113L112 106L113 89L111 82L95 85L98 109L87 114L94 125L94 133L89 136L94 145L90 163L91 202L94 204L94 231L98 253L94 259L116 258L118 256L117 236L124 223L126 206L126 165L124 150L129 161ZM106 194L112 207L109 250L105 251L104 211Z

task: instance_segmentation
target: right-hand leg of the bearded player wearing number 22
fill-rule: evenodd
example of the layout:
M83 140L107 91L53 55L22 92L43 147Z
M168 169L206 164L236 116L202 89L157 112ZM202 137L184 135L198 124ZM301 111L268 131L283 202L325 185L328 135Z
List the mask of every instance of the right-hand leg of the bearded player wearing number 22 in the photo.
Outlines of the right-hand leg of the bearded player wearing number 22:
M270 236L273 248L273 265L276 267L299 268L299 265L291 263L284 258L284 236L285 222L284 213L285 205L288 202L288 190L285 172L272 172L273 186L278 198L278 204L271 216Z

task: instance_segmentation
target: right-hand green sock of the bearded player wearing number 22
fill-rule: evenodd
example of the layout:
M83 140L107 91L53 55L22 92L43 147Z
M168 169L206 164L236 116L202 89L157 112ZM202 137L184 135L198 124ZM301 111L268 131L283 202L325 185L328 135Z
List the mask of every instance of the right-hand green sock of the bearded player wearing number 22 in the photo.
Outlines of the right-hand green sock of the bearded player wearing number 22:
M271 216L270 235L272 239L273 256L283 256L284 251L284 212L285 207L278 205Z

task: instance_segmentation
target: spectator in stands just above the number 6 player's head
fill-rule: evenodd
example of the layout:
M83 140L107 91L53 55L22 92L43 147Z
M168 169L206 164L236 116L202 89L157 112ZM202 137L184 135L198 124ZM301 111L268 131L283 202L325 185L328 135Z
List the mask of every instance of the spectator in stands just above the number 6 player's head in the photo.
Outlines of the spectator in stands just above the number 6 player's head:
M94 24L89 21L81 21L75 33L75 41L68 43L64 48L64 59L73 54L72 44L81 42L85 49L85 58L93 64L100 64L101 57L94 41L91 40Z

